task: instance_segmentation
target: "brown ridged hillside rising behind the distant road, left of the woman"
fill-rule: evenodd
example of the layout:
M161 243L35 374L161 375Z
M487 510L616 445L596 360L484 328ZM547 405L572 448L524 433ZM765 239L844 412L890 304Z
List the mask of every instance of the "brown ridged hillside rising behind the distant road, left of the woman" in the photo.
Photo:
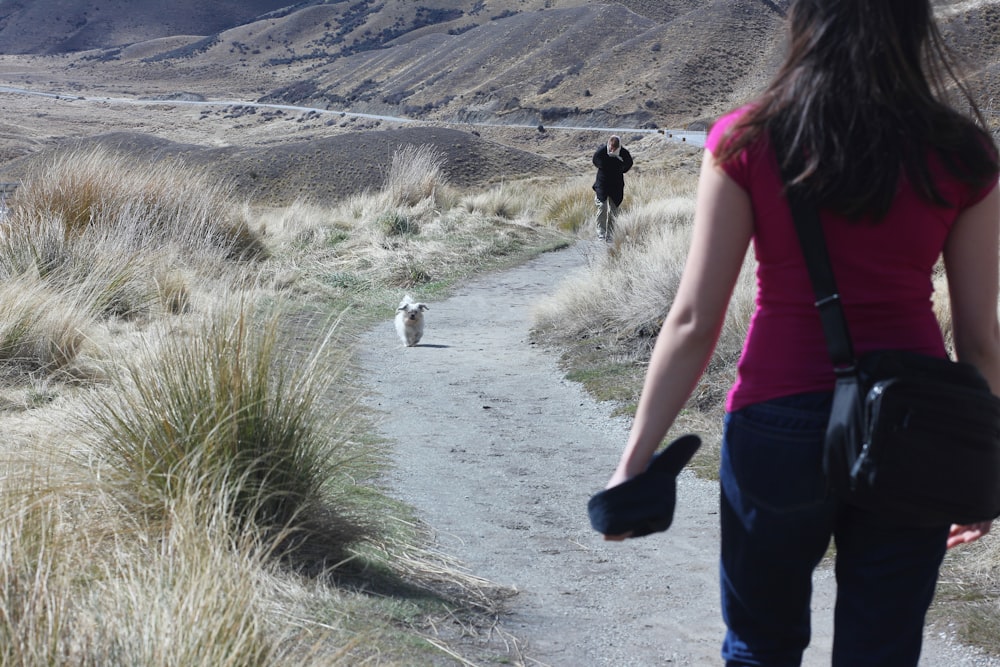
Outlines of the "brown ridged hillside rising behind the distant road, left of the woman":
M73 82L173 81L176 90L183 79L206 96L227 91L451 122L677 127L759 87L776 61L783 20L769 0L308 2L237 20L265 4L240 15L222 5L220 17L233 25L217 33L210 30L223 18L192 19L177 28L184 32L161 26L128 44L122 25L100 24L108 46L70 61ZM37 20L17 15L0 20L0 48L10 51L6 36ZM56 43L90 44L98 40L81 41L81 31L96 35L99 27L90 21ZM38 50L55 49L46 42Z

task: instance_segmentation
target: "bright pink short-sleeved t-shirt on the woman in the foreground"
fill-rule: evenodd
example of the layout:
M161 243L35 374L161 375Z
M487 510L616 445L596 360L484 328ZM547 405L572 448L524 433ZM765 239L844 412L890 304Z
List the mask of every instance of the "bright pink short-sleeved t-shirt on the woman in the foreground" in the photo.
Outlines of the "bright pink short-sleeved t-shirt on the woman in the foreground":
M712 127L705 143L709 151L741 113L731 112ZM722 168L750 195L757 259L756 308L726 409L829 391L832 362L768 140ZM941 194L957 202L953 207L930 205L904 183L889 215L878 224L851 223L828 211L820 215L856 354L895 348L945 355L931 302L932 269L958 214L996 183L977 190L943 168L935 176Z

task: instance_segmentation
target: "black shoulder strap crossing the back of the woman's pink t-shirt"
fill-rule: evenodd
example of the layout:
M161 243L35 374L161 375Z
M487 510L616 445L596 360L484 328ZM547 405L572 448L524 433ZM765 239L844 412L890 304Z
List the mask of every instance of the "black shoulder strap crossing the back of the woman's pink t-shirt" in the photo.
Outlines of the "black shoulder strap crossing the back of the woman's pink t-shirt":
M787 183L787 179L783 180ZM805 256L813 293L816 295L816 308L819 310L834 372L838 377L852 374L856 366L854 347L851 345L851 333L847 328L847 318L844 316L840 294L837 292L837 282L833 277L833 267L830 266L830 255L823 238L819 211L796 193L794 188L786 187L785 196L792 211L799 245L802 246L802 254Z

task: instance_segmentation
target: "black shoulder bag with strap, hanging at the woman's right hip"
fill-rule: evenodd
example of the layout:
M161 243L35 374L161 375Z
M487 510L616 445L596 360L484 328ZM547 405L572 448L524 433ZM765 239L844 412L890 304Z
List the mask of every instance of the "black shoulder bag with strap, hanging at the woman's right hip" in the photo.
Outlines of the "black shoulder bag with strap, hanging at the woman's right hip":
M1000 516L1000 399L968 363L855 357L816 208L788 196L837 377L823 464L846 502L914 525Z

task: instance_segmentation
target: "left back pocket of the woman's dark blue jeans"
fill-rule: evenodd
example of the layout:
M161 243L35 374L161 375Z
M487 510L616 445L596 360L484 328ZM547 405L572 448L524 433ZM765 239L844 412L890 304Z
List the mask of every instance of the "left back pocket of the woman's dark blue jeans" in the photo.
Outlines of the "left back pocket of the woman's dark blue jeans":
M826 501L823 439L828 410L774 402L727 415L720 480L731 499L770 512L815 509Z

